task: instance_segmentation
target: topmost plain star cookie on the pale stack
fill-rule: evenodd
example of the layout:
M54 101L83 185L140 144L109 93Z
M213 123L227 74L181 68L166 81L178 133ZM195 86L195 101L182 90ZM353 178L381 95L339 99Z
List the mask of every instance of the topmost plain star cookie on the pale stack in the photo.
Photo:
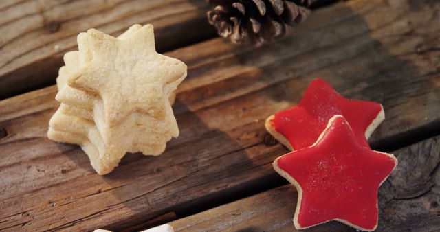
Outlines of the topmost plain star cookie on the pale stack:
M81 70L69 86L99 96L106 124L115 126L133 112L165 118L165 86L186 76L186 65L155 51L153 26L124 39L90 29L78 35Z

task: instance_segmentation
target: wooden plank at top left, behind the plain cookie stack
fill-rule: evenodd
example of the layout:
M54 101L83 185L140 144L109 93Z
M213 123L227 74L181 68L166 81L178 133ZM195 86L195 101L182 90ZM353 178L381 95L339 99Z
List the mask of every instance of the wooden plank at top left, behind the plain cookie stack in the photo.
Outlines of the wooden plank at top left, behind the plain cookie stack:
M2 1L3 3L3 1ZM54 83L62 56L89 28L118 35L151 23L157 49L215 35L203 0L28 0L0 5L0 99Z

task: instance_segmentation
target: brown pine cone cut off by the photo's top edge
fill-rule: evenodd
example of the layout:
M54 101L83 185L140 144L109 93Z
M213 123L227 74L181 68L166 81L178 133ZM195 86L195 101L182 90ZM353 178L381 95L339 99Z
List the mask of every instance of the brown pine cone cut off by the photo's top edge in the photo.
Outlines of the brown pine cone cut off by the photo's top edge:
M311 0L207 0L217 5L207 13L219 36L232 43L270 43L294 30L310 13Z

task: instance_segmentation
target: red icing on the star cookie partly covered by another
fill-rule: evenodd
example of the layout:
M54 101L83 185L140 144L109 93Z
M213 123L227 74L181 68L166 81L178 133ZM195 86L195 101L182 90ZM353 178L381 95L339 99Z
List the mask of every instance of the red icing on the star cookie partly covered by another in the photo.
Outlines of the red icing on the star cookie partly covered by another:
M275 114L272 126L294 150L299 150L315 143L331 117L343 115L362 146L369 147L365 131L380 111L380 104L345 99L329 83L317 78L310 83L298 106Z

